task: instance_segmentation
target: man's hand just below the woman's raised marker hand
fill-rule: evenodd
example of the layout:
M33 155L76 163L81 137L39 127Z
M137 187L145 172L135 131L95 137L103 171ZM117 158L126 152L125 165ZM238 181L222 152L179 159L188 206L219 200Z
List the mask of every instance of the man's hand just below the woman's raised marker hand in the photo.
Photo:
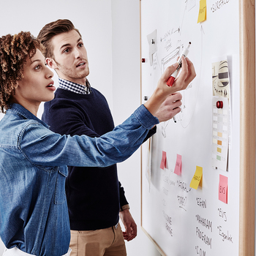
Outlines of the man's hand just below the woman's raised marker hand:
M181 111L181 108L179 108L181 106L181 99L182 95L179 92L171 94L165 99L155 114L159 122L167 121Z

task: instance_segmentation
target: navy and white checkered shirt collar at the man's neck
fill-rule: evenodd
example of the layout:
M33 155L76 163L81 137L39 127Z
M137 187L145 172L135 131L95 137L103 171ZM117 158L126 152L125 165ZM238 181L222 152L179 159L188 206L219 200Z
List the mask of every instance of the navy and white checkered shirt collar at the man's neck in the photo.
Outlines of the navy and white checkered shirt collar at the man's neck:
M86 78L86 86L59 78L59 88L67 91L75 92L76 94L91 94L91 85L89 83L89 80L87 80L87 78Z

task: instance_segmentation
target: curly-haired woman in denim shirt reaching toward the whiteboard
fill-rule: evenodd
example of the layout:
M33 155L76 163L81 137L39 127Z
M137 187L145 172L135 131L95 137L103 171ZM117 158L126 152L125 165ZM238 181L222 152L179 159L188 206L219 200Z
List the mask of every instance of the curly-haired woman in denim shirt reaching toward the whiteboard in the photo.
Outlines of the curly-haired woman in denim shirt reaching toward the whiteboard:
M195 78L192 62L183 59L173 87L166 81L177 64L160 78L148 102L113 132L100 138L61 136L37 118L39 104L53 99L55 91L43 50L29 32L0 38L0 106L6 111L0 121L0 236L8 248L4 256L69 255L67 165L106 167L127 159L148 129L179 112L180 100L173 102L168 95Z

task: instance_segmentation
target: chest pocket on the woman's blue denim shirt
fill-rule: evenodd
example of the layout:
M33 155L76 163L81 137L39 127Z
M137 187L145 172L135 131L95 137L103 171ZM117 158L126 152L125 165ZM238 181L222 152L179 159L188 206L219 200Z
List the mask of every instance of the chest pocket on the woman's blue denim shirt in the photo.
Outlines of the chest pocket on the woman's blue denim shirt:
M56 205L62 204L66 200L65 193L65 180L67 178L67 170L61 170L58 168L55 186L54 203Z

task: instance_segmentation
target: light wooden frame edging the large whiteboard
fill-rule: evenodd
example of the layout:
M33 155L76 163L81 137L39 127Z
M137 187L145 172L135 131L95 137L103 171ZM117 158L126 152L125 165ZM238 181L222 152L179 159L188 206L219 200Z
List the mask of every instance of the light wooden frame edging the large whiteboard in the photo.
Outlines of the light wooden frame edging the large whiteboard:
M255 256L255 0L239 0L240 50L240 189L239 256ZM141 60L141 0L140 0ZM142 70L140 61L140 104ZM165 255L143 227L142 148L140 148L140 227L161 255Z

